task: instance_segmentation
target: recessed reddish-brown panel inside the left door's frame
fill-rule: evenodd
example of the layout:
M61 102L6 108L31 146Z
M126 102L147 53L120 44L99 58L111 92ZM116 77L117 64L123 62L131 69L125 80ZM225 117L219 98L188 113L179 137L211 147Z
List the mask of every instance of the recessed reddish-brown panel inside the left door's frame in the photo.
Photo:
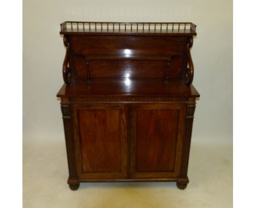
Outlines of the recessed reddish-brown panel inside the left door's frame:
M118 109L80 109L77 113L82 172L120 172L120 111ZM124 143L126 144L126 141Z

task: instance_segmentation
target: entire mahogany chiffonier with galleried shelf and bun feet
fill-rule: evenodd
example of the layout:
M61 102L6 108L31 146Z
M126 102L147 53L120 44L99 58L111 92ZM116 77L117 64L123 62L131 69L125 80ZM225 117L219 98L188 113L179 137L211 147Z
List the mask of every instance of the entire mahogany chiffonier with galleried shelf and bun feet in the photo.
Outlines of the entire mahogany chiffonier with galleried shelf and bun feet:
M190 22L63 22L58 97L72 190L80 182L175 181L187 187L199 97Z

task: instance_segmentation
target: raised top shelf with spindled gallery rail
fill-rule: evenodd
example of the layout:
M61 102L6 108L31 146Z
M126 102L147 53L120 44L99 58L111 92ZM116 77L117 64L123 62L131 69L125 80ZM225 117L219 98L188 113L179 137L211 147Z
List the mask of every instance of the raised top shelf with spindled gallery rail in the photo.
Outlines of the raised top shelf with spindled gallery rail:
M70 35L196 35L191 22L72 22L61 23L60 34Z

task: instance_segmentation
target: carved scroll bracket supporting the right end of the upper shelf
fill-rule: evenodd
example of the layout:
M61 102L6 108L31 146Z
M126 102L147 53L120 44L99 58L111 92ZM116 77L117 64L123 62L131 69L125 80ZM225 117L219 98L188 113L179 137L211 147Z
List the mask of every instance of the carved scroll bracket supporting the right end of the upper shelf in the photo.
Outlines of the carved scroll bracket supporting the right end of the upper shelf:
M188 39L188 44L187 44L188 67L185 73L185 83L187 85L190 85L193 82L193 77L194 77L194 64L190 54L190 48L192 47L192 45L193 45L193 37L191 36Z

